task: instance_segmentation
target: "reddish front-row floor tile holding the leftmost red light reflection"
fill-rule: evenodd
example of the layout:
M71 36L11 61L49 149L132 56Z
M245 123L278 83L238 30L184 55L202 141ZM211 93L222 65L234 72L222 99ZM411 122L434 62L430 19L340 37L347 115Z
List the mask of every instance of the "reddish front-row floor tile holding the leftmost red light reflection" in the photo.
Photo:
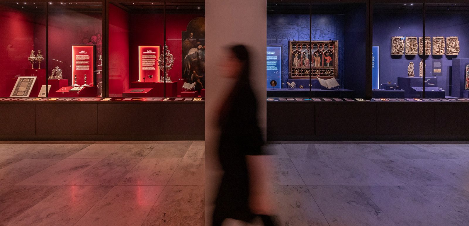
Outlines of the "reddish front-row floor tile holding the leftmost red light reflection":
M63 186L9 222L12 226L73 226L112 186Z

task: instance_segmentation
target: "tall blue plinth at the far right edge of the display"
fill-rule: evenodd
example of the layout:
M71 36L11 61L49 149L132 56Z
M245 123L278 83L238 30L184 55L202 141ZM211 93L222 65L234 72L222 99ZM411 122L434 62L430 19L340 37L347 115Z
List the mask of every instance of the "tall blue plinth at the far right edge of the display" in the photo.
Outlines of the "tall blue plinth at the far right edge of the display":
M468 58L453 59L453 67L451 69L451 96L461 98L463 97L463 90L465 87L465 71L466 65L469 65Z

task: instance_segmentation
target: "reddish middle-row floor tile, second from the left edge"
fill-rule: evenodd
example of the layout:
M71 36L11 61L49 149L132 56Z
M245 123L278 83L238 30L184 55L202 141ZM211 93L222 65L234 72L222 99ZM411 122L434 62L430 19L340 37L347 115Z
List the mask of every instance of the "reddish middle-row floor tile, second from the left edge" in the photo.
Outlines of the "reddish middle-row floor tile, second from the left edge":
M16 185L66 185L101 159L63 159Z

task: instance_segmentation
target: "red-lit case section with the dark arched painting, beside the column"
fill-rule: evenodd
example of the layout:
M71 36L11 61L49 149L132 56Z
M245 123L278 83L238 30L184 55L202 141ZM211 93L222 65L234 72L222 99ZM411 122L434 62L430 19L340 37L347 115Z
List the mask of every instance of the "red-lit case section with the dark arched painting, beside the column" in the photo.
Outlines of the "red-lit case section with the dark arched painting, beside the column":
M109 97L204 97L204 1L110 2L108 55Z

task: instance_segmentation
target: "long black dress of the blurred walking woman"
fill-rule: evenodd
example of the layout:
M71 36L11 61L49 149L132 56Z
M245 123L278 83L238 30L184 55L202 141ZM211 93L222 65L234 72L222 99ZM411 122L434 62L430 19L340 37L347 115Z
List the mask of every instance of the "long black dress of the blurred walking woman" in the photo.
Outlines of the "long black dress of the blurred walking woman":
M257 101L247 82L238 82L223 106L219 127L219 160L225 171L215 202L213 225L225 218L250 221L249 174L246 155L262 154L263 139L257 126Z

